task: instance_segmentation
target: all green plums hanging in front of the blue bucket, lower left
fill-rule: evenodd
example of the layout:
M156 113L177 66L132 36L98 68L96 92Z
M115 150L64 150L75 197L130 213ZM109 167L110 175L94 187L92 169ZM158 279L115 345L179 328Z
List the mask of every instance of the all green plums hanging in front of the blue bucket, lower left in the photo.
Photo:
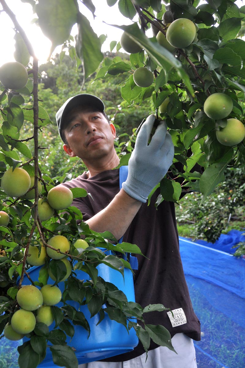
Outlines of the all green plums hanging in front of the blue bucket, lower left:
M66 280L71 272L72 265L66 257L70 250L69 240L62 235L53 236L47 243L52 248L45 247L42 243L41 249L39 246L30 246L27 254L27 262L32 266L42 266L46 260L50 262L62 261L66 267L66 274L60 282ZM83 240L78 239L74 243L78 253L89 247L89 244ZM49 277L56 281L56 277L48 268ZM16 301L20 307L14 312L11 322L7 323L4 328L4 336L10 340L20 340L24 335L32 332L35 328L36 322L45 323L50 326L54 321L51 306L58 304L61 301L61 291L57 286L46 284L39 290L33 285L22 286L16 295Z

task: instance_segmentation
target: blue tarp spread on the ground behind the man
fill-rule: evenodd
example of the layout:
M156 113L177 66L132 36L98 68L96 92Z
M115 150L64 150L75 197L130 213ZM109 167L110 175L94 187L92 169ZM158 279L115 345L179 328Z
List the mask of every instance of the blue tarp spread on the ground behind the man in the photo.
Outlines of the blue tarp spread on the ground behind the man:
M209 245L180 237L184 273L201 321L197 367L245 368L245 259L215 249L221 243ZM225 243L233 253L232 245Z

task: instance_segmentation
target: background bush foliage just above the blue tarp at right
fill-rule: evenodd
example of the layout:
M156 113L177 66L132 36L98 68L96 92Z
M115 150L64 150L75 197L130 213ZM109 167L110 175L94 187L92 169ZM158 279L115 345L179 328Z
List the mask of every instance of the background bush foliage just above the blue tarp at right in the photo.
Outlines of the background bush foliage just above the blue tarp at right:
M222 231L227 228L230 219L245 221L245 175L241 168L229 168L226 180L219 184L209 201L200 206L201 194L186 194L176 206L177 223L191 225L190 236L194 239L205 239L214 243ZM180 208L178 208L180 207ZM242 230L239 229L239 230Z

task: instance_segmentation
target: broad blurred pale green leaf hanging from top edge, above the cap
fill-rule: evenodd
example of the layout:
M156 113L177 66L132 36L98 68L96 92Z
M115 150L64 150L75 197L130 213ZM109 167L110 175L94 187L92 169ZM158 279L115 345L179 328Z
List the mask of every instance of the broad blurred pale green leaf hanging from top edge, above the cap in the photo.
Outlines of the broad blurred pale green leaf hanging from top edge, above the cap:
M77 22L77 5L73 0L42 0L35 7L42 33L52 42L51 53L70 36Z

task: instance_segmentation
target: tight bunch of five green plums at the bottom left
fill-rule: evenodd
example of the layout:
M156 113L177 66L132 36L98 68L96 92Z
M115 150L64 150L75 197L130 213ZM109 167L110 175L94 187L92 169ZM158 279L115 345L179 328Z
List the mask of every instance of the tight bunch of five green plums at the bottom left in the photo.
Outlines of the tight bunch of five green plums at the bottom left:
M34 285L22 286L16 295L20 307L4 327L4 336L9 340L20 340L32 332L36 322L50 326L54 321L51 306L61 301L62 293L57 286L46 284L38 289Z

